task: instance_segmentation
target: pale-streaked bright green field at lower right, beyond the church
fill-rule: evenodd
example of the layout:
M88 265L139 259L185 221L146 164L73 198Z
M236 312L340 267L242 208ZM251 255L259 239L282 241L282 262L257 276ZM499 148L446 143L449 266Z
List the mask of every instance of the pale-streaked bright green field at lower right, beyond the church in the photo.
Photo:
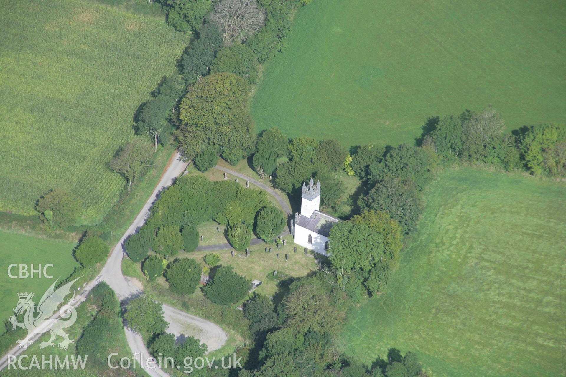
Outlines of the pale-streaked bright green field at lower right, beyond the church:
M388 293L349 318L347 352L414 351L434 376L564 376L564 184L461 168L426 203Z

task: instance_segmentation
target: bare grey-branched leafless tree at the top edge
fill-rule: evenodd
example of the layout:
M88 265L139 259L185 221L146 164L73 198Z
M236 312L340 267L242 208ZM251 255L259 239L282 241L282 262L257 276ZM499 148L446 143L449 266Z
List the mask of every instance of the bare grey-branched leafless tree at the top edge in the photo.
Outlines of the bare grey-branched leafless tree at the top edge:
M266 12L256 0L222 0L210 19L218 25L226 46L244 42L265 24Z

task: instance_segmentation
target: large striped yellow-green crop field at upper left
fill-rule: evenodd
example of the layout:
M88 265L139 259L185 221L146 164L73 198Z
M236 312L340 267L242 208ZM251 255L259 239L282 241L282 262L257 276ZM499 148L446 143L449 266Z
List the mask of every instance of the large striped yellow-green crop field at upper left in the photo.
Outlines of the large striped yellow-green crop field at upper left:
M6 3L0 24L0 211L31 214L62 188L96 221L125 186L108 162L188 38L163 19L79 0Z

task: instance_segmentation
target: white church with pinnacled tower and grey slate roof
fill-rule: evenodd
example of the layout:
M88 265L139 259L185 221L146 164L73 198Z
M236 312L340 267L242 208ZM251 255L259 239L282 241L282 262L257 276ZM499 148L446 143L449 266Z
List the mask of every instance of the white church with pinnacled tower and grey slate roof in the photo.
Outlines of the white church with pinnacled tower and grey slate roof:
M303 182L301 213L295 213L295 244L328 255L328 234L340 219L320 211L320 181Z

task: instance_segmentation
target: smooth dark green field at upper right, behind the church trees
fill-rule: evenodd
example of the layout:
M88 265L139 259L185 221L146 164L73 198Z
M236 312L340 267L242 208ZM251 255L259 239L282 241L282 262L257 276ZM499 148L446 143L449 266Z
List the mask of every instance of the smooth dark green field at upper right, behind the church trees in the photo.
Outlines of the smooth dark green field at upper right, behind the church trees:
M566 120L566 3L314 0L264 67L258 129L396 145L428 116L493 105L509 129Z

